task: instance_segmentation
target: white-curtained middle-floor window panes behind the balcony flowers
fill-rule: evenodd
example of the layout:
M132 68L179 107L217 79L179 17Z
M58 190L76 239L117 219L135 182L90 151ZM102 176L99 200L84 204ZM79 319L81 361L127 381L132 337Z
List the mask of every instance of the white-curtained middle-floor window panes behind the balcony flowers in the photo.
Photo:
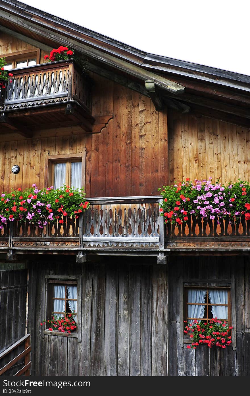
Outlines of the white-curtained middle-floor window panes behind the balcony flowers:
M54 162L54 188L62 187L63 184L80 189L82 187L82 163L80 161Z

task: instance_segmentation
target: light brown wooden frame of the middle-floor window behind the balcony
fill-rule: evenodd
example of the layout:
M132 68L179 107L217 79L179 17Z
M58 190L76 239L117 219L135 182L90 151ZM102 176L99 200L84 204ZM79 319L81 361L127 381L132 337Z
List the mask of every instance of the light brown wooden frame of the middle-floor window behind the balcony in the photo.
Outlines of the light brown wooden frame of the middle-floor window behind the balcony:
M70 162L81 162L82 163L82 187L85 190L85 161L86 161L86 150L79 154L64 154L64 155L49 155L47 158L47 164L45 165L45 186L53 186L54 180L54 166L55 164L66 162L66 175L70 178ZM68 163L68 166L67 166ZM46 171L47 169L47 171ZM67 185L67 183L66 183ZM70 183L68 184L70 185Z

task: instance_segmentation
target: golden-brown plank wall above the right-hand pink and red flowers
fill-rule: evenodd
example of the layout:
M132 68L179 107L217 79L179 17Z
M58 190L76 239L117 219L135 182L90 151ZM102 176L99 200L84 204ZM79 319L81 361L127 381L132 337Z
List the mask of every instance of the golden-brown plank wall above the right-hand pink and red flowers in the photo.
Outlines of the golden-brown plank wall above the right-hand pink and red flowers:
M168 111L169 184L220 178L250 181L250 130L195 114Z

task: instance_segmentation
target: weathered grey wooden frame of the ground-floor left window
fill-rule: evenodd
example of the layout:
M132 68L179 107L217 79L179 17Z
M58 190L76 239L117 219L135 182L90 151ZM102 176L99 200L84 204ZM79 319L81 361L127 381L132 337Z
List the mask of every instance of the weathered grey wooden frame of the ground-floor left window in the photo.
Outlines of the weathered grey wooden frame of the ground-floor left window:
M77 338L78 342L81 341L81 275L79 276L66 276L66 275L45 275L45 318L51 318L52 314L52 287L53 284L69 285L74 284L77 286L77 328L73 333L61 333L60 331L43 330L45 335L58 335L62 337ZM43 319L41 319L42 321Z

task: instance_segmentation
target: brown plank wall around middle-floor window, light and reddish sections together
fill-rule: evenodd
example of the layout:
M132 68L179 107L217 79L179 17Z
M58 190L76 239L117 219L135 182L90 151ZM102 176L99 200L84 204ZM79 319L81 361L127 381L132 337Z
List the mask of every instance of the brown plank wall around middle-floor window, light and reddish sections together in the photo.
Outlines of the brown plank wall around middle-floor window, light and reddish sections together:
M158 194L168 174L167 112L157 112L148 97L131 89L92 77L93 116L107 116L108 124L93 134L72 127L36 130L30 139L17 133L1 135L1 191L33 183L47 187L49 156L86 148L87 196ZM17 175L11 173L14 164L21 169Z

